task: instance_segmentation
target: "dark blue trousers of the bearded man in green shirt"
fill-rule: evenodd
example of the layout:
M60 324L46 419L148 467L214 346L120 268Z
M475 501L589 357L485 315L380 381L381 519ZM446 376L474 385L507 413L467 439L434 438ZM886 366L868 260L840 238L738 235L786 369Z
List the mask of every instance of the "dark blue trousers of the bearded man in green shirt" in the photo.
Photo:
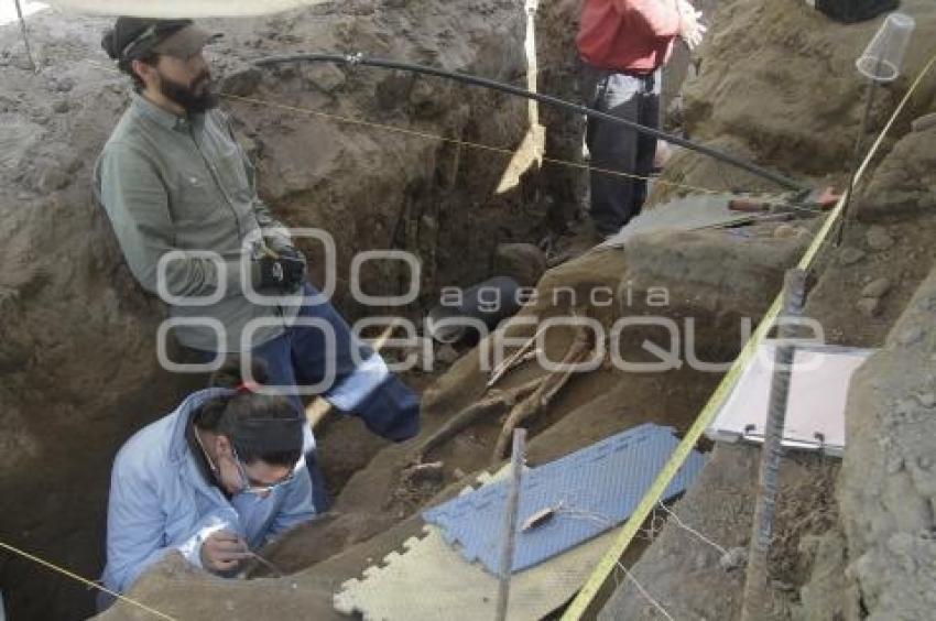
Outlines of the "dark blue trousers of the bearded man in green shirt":
M318 292L305 285L306 297ZM335 338L335 348L326 348L326 336L319 327L286 328L276 338L253 349L253 356L266 363L268 384L280 386L313 386L326 377L327 364L334 368L334 381L322 396L338 410L359 416L374 434L403 442L420 431L420 400L399 378L374 370L374 364L361 361L377 360L371 348L355 338L350 327L328 302L306 304L298 317L324 319ZM358 352L357 360L355 350ZM208 359L214 355L205 352ZM297 412L305 415L302 397L293 392L290 399ZM313 483L313 502L317 512L328 506L325 481L314 451L306 455Z

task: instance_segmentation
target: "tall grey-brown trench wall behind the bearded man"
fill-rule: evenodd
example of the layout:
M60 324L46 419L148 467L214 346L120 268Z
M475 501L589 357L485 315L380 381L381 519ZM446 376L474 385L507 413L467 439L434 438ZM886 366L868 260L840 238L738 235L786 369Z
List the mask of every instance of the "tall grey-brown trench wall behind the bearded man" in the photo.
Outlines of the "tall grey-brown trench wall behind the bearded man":
M164 309L133 281L91 197L91 165L128 95L128 80L99 47L110 20L57 12L29 19L39 74L26 68L19 28L0 26L0 489L8 499L0 533L95 578L113 455L205 378L156 364ZM222 105L258 166L260 194L291 226L331 235L334 302L349 320L389 310L418 319L443 285L490 276L499 246L547 232L548 205L529 154L518 153L511 167L508 156L459 144L518 150L530 124L525 102L400 73L248 65L314 42L522 84L526 15L515 3L326 3L207 23L226 33L210 51L213 70L220 89L237 96ZM413 304L366 308L353 301L350 259L369 249L420 257ZM322 285L325 251L315 242L304 250ZM409 279L398 261L372 262L360 286L399 294ZM406 379L421 390L429 375ZM322 444L336 493L384 446L352 420L329 423ZM0 556L0 585L14 619L92 611L85 587L8 554Z

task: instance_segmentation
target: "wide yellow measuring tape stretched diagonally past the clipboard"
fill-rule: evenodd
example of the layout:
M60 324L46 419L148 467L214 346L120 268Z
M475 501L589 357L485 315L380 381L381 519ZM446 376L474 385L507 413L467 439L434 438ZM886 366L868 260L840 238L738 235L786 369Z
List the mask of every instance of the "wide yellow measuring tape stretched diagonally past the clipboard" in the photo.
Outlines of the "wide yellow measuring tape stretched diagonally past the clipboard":
M907 101L910 101L911 96L923 81L923 78L926 76L927 73L929 73L929 69L933 67L934 63L936 63L936 55L929 58L929 61L916 76L916 79L914 79L910 89L906 91L906 95L904 95L903 99L901 99L900 103L894 110L894 113L888 121L888 124L884 126L884 129L881 131L881 134L878 137L878 140L874 141L874 144L871 146L871 150L868 152L868 155L864 157L864 161L862 162L861 166L858 168L858 173L855 177L856 182L861 178L861 176L868 170L869 163L874 157L874 154L877 153L878 149L881 146L884 137L893 127L894 122L896 121L900 113L903 111ZM799 260L799 263L797 265L799 269L808 270L812 265L813 260L816 258L816 254L819 252L819 249L825 243L825 240L831 231L832 227L835 226L835 222L841 216L846 198L847 196L842 196L841 198L839 198L835 209L832 209L832 211L829 214L829 217L826 219L821 229L818 233L816 233L816 238L813 240L813 243L809 246L809 248L806 250L806 253ZM766 338L766 335L770 329L773 327L774 322L780 315L780 309L782 305L783 304L781 293L781 295L777 295L776 298L773 301L773 304L766 312L766 315L764 315L764 318L761 320L760 325L758 326L758 329L744 345L744 348L741 350L741 353L734 360L734 363L731 366L731 369L729 369L728 373L721 380L721 383L718 384L718 388L715 389L715 392L708 400L708 403L705 404L705 407L703 407L698 418L696 418L696 422L693 424L693 426L686 433L686 436L676 447L676 450L670 457L670 460L666 462L663 469L660 471L660 475L657 475L656 479L653 481L653 484L650 487L649 490L646 490L643 500L641 500L638 508L631 514L624 527L621 529L621 532L619 533L614 542L611 544L611 547L608 549L608 552L605 553L605 556L598 563L598 566L589 577L588 581L578 592L578 596L575 598L575 600L573 600L573 602L566 609L565 613L563 614L562 621L577 621L586 615L591 617L596 613L594 607L597 606L596 598L598 593L608 582L609 578L612 576L614 567L618 566L618 563L620 562L624 552L628 549L628 546L630 546L634 536L638 534L641 524L643 524L644 520L646 520L653 509L657 505L660 499L663 497L663 492L670 486L670 482L676 476L676 472L683 466L683 462L685 462L685 460L692 454L693 448L698 443L703 433L705 433L705 431L711 424L716 414L721 408L725 401L728 399L729 394L731 393L731 389L733 388L738 378L741 375L751 359L754 357L758 348Z

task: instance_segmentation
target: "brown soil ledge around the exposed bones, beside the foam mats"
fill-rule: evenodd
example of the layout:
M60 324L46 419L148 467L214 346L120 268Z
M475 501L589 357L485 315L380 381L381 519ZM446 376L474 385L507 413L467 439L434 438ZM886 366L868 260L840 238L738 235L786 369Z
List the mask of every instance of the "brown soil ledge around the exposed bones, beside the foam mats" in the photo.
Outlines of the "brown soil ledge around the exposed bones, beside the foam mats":
M673 302L665 309L667 316L698 318L699 357L710 361L730 360L740 348L740 334L732 342L722 334L725 325L737 317L736 313L750 312L757 318L764 310L771 298L770 288L802 244L802 240L774 240L774 227L755 227L751 237L721 231L656 236L643 242L644 255L636 264L630 264L620 250L585 254L547 272L537 286L538 302L526 307L521 317L542 319L568 313L566 295L560 295L555 303L553 294L558 288L572 288L580 296L595 287L609 287L616 296L614 304L609 307L589 307L581 297L575 304L579 313L588 313L607 328L625 314L651 310L645 293L653 283L670 291ZM775 247L773 254L763 253L765 243ZM674 246L682 249L688 262L709 268L687 274L682 264L671 260L667 249ZM772 259L757 261L757 255ZM712 280L716 264L722 272ZM749 282L750 285L732 288L729 282ZM494 333L489 340L507 334L529 335L531 328L508 327ZM557 328L546 337L548 356L558 359L569 345L572 330ZM622 356L631 360L639 358L643 338L657 339L659 336L644 331L633 339L623 339ZM424 393L422 437L483 392L488 373L480 370L480 362L478 350L472 350ZM537 364L527 363L508 374L498 388L509 389L542 374ZM607 364L601 370L574 377L549 406L526 425L532 436L530 462L555 459L646 421L683 432L718 380L717 373L694 371L688 367L633 374ZM427 456L427 460L444 464L443 477L435 482L413 484L403 475L414 460L417 443L381 450L350 478L327 516L297 529L266 551L266 556L284 570L298 571L274 582L292 580L303 592L302 601L313 598L318 602L315 606L325 606L323 600L330 597L341 581L358 576L368 564L399 547L404 535L418 534L417 511L421 508L450 495L470 480L474 472L490 464L501 422L502 416L497 414L482 420ZM170 613L184 612L189 619L207 618L198 604L189 603L191 598L197 597L197 590L193 590L189 578L184 580L183 584L178 578L166 580L154 576L143 580L133 592L146 601L160 601L168 607ZM250 614L251 604L241 604L242 597L238 593L251 589L238 586L226 595L233 602L232 618L246 619ZM294 603L291 601L284 609ZM106 618L126 614L128 610L119 608Z

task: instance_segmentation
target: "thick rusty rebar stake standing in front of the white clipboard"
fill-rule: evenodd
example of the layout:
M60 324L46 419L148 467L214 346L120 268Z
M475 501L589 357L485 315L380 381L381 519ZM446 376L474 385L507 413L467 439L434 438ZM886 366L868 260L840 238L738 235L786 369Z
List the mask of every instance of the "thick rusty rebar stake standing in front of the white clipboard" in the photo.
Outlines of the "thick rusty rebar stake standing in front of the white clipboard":
M773 535L773 520L780 486L780 464L783 457L783 427L786 421L786 403L790 397L790 380L793 375L793 358L796 353L796 347L791 339L796 335L794 320L803 314L805 295L806 271L790 270L785 279L784 313L777 324L770 407L764 425L760 479L758 481L754 521L751 529L751 545L748 553L748 570L741 607L742 621L762 619L770 601L768 554Z

